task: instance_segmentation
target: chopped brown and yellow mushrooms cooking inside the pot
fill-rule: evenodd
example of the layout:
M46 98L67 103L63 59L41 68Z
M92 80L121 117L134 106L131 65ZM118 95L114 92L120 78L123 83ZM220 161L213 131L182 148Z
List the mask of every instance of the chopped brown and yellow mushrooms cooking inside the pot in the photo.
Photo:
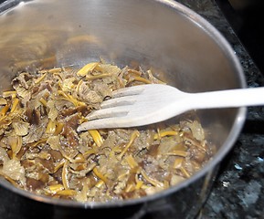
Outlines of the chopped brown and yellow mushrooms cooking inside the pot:
M0 174L17 188L79 202L157 193L212 156L198 120L77 131L115 89L164 83L151 70L104 61L20 72L0 99Z

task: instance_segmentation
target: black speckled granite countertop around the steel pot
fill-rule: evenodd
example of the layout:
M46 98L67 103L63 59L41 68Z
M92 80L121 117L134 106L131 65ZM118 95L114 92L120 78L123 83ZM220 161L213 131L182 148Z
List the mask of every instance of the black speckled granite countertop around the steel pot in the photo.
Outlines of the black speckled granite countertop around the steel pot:
M204 16L227 38L244 68L248 87L264 85L264 78L240 44L235 32L214 0L178 1ZM198 218L264 218L264 108L248 108L248 116L238 141L221 163L212 191ZM31 214L37 203L28 206L15 193L0 187L0 218L41 217ZM46 211L44 208L43 211ZM50 211L47 218L55 218ZM25 217L26 218L26 217ZM89 218L89 217L88 217Z

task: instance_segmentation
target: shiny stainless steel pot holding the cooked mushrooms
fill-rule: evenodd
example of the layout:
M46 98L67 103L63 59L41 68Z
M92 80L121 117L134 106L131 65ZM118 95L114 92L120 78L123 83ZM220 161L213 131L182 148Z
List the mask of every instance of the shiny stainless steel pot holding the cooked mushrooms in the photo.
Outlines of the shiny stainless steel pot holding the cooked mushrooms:
M0 12L1 90L8 89L17 70L79 67L100 57L119 66L153 68L169 84L189 92L246 87L226 39L172 0L8 0ZM246 109L199 110L197 115L216 155L192 178L164 192L115 203L77 203L26 193L3 179L0 184L53 204L61 215L82 209L99 218L160 218L163 208L178 218L192 218L206 200L218 163L238 138Z

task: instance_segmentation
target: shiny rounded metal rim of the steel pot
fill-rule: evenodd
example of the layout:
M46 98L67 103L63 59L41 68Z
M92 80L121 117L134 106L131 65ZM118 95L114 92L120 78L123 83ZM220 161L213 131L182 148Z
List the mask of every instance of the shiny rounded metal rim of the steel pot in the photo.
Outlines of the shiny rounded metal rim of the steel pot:
M154 0L154 1L157 3L160 3L161 5L166 5L174 9L175 11L177 11L178 13L182 14L183 16L188 18L190 21L192 21L196 26L199 26L199 28L202 28L204 31L206 31L206 34L211 36L214 39L218 47L221 47L225 55L231 60L234 69L238 73L240 88L247 87L246 79L243 74L243 69L239 63L238 57L235 55L233 48L227 42L227 39L224 36L222 36L222 34L216 29L215 26L211 25L205 18L195 13L195 11L191 10L187 6L182 5L178 2L175 2L173 0ZM0 12L3 12L5 11L5 9L8 9L7 5L9 6L11 5L13 7L14 5L18 5L21 2L23 1L7 0L5 1L4 4L0 5ZM3 8L3 5L4 5L4 8ZM227 152L231 150L235 141L238 139L238 135L240 131L242 130L244 121L246 120L246 113L247 113L247 108L243 107L243 108L238 109L236 119L234 121L231 131L229 132L227 140L223 143L221 149L217 151L213 159L207 162L205 167L201 171L196 172L195 175L185 180L184 182L179 183L175 186L172 186L159 193L154 193L152 195L147 195L141 198L131 199L131 200L116 200L114 202L106 202L106 203L99 203L99 202L79 203L77 201L62 200L62 199L58 200L58 199L53 199L48 196L26 192L24 190L14 187L11 183L8 183L7 181L1 180L1 179L0 179L0 185L4 186L6 189L8 189L11 192L18 193L29 199L32 199L32 200L35 200L41 203L50 203L50 204L55 204L55 205L64 206L64 207L82 207L85 209L86 208L90 208L90 209L101 208L101 207L111 208L111 207L119 207L119 206L150 202L155 199L163 198L164 196L170 193L175 193L185 188L189 184L194 183L196 180L206 175L207 172L212 171L216 167L216 165L219 162L221 162L222 159L227 155Z

